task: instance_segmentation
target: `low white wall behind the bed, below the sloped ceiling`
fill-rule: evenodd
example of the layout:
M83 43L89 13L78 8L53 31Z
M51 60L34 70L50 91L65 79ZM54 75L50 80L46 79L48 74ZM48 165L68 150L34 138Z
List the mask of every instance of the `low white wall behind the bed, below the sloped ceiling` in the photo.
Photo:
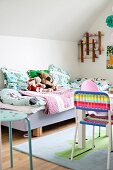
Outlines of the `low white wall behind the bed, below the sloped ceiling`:
M0 67L47 69L50 64L55 64L72 76L78 75L74 42L0 36L0 58Z

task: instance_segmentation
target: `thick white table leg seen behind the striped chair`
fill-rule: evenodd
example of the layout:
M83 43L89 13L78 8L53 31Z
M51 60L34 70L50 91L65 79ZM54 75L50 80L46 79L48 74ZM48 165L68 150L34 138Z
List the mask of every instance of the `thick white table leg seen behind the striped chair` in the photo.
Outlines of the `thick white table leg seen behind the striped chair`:
M82 120L85 117L85 111L82 110L78 110L78 122L80 122L80 120ZM85 134L85 125L82 124L78 124L78 146L79 148L85 148L85 138L86 138L86 134Z

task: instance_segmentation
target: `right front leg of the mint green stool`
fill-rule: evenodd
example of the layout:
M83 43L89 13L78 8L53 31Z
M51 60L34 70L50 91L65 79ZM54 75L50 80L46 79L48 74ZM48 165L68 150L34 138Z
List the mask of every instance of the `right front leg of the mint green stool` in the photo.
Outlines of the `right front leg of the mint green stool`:
M28 118L26 118L28 125L28 142L29 142L29 159L30 159L30 170L33 170L33 161L32 161L32 144L31 144L31 125Z

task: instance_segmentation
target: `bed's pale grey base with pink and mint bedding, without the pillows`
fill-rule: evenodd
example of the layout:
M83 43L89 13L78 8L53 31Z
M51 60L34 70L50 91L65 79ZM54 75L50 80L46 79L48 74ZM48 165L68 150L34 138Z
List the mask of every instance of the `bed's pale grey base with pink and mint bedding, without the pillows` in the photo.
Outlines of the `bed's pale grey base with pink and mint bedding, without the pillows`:
M29 91L20 92L25 94ZM27 113L31 122L31 129L33 130L34 136L40 136L42 133L42 127L44 126L75 117L75 110L73 107L73 91L62 89L59 90L59 92L55 92L55 94L38 94L37 92L29 92L33 95L30 97L20 97L18 93L19 92L14 89L1 90L0 96L2 102L0 102L0 108L18 110ZM34 93L37 93L39 97L37 97L37 103L32 106L30 103L34 100ZM42 95L46 95L46 98ZM2 125L7 126L8 124L4 122ZM21 131L27 131L27 126L24 120L16 123L14 122L12 127Z

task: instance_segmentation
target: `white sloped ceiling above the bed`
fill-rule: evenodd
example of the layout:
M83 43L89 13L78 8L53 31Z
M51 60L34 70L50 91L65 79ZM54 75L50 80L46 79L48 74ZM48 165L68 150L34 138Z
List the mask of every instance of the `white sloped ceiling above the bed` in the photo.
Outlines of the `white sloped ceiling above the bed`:
M76 41L110 0L0 0L0 35Z

